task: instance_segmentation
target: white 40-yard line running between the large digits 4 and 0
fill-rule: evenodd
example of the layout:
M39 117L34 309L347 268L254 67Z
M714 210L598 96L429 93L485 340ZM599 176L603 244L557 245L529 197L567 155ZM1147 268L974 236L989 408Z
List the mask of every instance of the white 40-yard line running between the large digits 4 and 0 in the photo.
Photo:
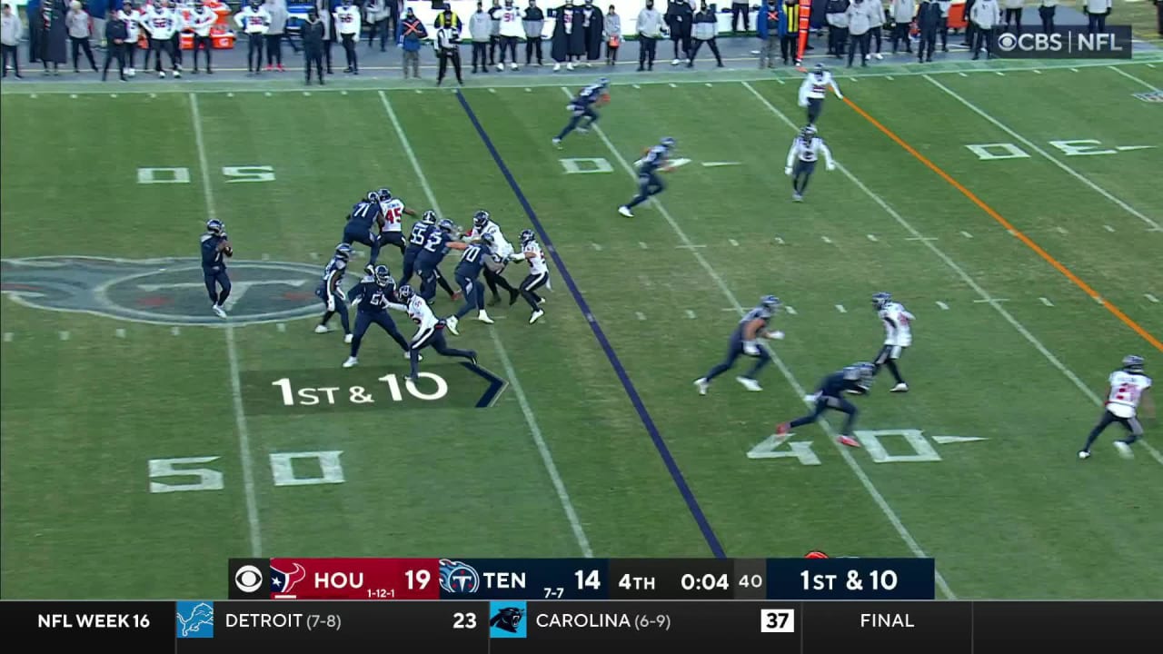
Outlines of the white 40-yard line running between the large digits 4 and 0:
M744 85L747 85L747 83L744 83ZM750 88L750 85L747 86L748 88ZM565 88L563 86L562 92L572 98L572 94L570 93L569 88ZM609 149L609 152L614 156L614 158L616 158L619 163L622 164L622 168L626 169L626 172L632 178L636 179L637 172L635 172L634 166L632 166L630 163L626 159L626 157L623 157L622 154L618 151L618 148L615 148L614 144L611 142L609 137L606 136L606 133L602 130L601 126L594 125L592 127L594 133L601 138L602 143L606 144L606 148ZM650 201L655 206L655 208L658 209L658 213L662 214L666 223L670 225L671 229L675 230L675 234L679 237L679 240L683 241L684 244L691 246L691 239L686 235L685 232L683 232L683 228L679 227L675 218L670 214L669 211L666 211L666 207L661 201L658 201L657 198L651 198ZM732 304L735 312L739 313L740 315L745 314L747 310L743 308L743 305L740 304L739 298L735 297L735 293L727 285L727 282L723 280L722 276L720 276L719 272L711 265L707 258L704 257L702 254L695 248L687 248L687 249L694 256L695 261L699 262L699 265L701 265L702 269L707 272L711 279L714 280L715 285L719 286L719 289L723 293L723 297ZM778 368L779 371L783 374L784 378L787 379L787 383L791 384L792 390L795 391L797 396L802 398L805 394L807 394L807 392L804 390L804 386L795 379L795 376L792 375L791 369L789 369L787 365L784 363L784 361L779 358L779 355L776 354L776 351L772 350L768 343L763 343L763 348L766 349L768 353L771 355L772 363L776 364L776 368ZM864 490L868 491L868 493L872 497L872 500L877 504L877 506L880 507L880 511L892 524L893 528L896 528L897 533L900 535L900 539L905 541L906 546L908 546L909 552L912 552L913 555L920 559L928 559L928 555L925 553L923 549L921 549L921 546L918 545L916 539L913 538L913 534L911 534L908 532L908 528L905 527L905 524L901 523L900 516L898 516L897 512L893 511L892 506L889 505L889 502L885 500L883 495L880 495L880 491L878 491L876 485L872 484L872 481L861 468L859 463L857 463L856 458L854 458L852 455L848 452L847 446L836 442L836 433L832 428L832 425L829 425L826 420L821 420L820 426L823 427L823 429L828 433L828 436L830 438L834 447L836 447L836 449L840 452L840 455L843 457L844 462L856 475L856 478L859 479L861 485L864 486ZM949 588L949 584L946 582L944 577L941 575L940 571L934 570L934 578L936 581L937 588L941 589L941 592L947 598L956 599L956 596L954 595L952 590Z

